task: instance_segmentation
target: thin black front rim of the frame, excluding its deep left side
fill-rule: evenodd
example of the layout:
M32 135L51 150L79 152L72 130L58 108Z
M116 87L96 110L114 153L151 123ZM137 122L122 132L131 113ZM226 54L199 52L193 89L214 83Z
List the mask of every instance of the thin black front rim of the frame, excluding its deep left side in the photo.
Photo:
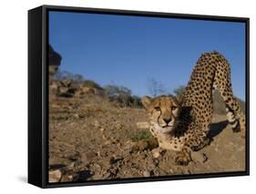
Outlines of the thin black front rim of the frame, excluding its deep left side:
M88 7L73 7L73 6L58 6L58 5L42 5L42 188L60 188L60 187L74 187L74 186L89 186L89 185L105 185L118 183L137 183L148 181L163 181L163 180L178 180L178 179L207 179L220 177L234 177L234 176L248 176L250 175L250 18L248 17L230 17L218 15L186 15L186 14L172 14L159 12L145 12L134 10L118 10L118 9L101 9ZM246 49L246 170L235 172L220 172L207 174L192 174L192 175L174 175L165 177L153 178L132 178L132 179L109 179L109 180L91 180L83 182L63 182L63 183L49 183L48 182L48 71L47 71L47 44L48 44L48 11L63 11L63 12L82 12L95 13L107 15L140 15L151 17L172 17L180 19L198 19L209 21L227 21L227 22L241 22L245 23L245 49ZM38 185L37 185L38 186Z

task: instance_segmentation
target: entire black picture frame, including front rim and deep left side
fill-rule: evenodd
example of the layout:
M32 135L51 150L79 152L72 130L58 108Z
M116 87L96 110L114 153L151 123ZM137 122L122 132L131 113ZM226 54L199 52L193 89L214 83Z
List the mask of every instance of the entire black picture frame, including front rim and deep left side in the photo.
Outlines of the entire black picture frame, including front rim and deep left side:
M103 15L171 17L246 24L246 170L209 174L176 175L156 178L93 180L87 182L48 183L48 12L78 12ZM250 174L250 19L216 15L184 15L131 10L42 5L28 11L28 182L40 188L145 182L172 179L204 179Z

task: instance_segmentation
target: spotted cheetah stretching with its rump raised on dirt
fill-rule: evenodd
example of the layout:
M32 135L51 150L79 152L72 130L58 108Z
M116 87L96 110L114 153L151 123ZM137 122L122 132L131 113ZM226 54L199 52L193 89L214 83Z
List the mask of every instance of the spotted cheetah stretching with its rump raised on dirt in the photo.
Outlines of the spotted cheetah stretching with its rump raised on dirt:
M212 91L216 88L226 104L233 131L241 131L244 137L245 115L233 96L230 64L218 52L201 54L179 99L162 95L141 100L148 112L149 131L159 141L159 149L175 150L178 165L188 165L191 153L210 143Z

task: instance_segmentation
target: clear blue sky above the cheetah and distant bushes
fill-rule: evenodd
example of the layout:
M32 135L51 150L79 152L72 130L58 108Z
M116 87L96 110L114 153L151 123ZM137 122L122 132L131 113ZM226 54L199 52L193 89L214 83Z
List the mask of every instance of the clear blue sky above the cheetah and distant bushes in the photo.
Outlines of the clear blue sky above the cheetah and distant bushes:
M128 15L49 13L49 43L60 69L100 85L148 95L148 79L167 92L186 85L201 53L219 51L230 62L233 92L245 99L245 24Z

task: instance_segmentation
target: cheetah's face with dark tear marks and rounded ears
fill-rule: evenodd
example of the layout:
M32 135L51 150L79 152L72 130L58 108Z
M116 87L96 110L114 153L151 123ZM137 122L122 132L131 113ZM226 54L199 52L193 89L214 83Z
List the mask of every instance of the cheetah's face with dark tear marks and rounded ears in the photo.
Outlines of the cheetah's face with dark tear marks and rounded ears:
M159 96L152 99L146 96L142 98L142 104L156 130L168 133L175 128L179 116L179 102L175 97Z

